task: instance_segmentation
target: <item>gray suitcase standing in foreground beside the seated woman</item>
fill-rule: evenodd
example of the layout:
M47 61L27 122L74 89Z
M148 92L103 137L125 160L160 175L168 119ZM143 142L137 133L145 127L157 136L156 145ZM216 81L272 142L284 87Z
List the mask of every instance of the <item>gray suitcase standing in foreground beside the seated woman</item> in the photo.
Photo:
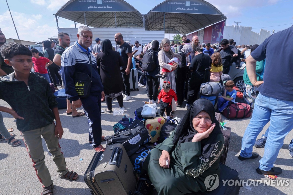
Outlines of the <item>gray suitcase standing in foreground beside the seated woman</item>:
M132 168L122 144L113 144L94 154L84 181L93 195L131 195L136 187Z

